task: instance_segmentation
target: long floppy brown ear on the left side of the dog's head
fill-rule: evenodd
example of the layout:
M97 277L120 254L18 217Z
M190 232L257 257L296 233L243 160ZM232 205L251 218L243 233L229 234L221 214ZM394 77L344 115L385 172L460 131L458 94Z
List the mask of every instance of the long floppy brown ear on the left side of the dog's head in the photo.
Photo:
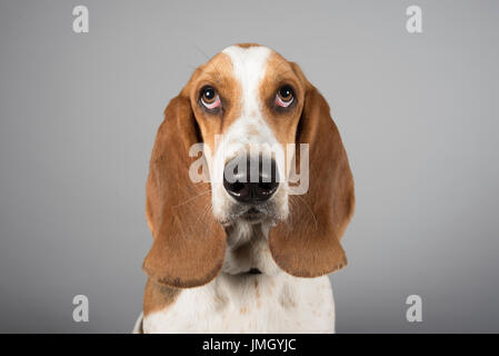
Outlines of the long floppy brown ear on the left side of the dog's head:
M143 270L153 280L178 288L213 279L226 250L226 233L211 215L210 184L189 178L189 166L198 159L189 157L189 148L202 139L186 91L164 110L152 149L146 204L154 240Z

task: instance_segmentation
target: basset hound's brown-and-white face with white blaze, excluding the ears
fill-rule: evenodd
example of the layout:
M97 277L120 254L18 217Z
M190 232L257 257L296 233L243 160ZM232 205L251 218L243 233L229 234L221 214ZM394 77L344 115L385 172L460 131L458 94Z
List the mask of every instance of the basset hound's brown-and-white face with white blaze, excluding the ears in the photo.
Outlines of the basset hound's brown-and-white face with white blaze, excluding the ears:
M292 65L266 47L232 46L198 68L187 88L216 219L224 226L286 219L295 154L287 146L295 144L305 92Z

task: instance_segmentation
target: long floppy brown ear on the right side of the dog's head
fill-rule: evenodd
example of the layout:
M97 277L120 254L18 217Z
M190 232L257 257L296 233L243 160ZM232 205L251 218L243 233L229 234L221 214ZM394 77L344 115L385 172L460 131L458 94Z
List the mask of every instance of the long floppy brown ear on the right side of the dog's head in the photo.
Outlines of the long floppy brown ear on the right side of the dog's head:
M305 195L290 196L291 216L270 230L269 246L290 275L317 277L347 265L340 238L353 214L353 178L326 99L291 66L306 88L296 144L309 144L310 184ZM298 167L299 155L297 150Z

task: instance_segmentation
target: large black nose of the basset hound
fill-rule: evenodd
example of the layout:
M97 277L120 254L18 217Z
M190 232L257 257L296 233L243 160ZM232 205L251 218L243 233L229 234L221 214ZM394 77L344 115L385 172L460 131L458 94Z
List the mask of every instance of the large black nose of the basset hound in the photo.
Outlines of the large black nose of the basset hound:
M273 159L238 156L226 165L223 187L238 201L263 202L278 186L279 174Z

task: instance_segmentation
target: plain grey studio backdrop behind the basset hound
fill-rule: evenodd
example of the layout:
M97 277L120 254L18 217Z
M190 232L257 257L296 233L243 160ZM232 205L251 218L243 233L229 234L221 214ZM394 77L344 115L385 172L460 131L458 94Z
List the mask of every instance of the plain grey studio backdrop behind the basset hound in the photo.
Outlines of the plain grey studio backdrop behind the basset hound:
M90 33L72 32L86 4ZM406 31L406 8L423 33ZM331 105L357 186L337 330L499 332L498 1L0 2L0 332L129 332L162 111L224 47ZM206 53L206 55L204 55ZM72 320L72 297L90 322ZM406 320L418 294L423 322Z

